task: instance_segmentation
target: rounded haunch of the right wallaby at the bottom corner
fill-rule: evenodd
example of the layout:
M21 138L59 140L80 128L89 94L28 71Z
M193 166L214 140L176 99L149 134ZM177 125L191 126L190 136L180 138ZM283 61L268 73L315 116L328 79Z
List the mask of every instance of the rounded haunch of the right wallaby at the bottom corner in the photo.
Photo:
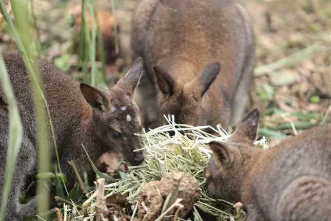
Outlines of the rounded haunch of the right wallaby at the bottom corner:
M330 180L303 176L282 193L277 205L277 220L330 220Z

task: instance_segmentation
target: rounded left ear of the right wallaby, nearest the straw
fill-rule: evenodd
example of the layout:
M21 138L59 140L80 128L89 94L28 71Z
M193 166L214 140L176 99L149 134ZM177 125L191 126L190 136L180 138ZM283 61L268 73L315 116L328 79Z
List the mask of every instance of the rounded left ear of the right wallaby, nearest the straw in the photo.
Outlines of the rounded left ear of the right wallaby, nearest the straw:
M222 165L227 165L232 161L233 153L230 146L226 143L211 141L209 147Z

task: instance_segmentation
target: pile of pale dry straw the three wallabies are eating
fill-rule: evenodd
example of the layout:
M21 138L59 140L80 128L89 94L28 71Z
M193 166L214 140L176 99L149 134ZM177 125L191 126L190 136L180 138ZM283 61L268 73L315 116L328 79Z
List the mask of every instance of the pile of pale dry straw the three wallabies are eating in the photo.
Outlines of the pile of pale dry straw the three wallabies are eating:
M211 126L190 126L174 123L173 116L167 118L169 124L164 125L142 134L143 149L145 151L145 161L141 165L129 167L128 174L122 174L122 179L116 180L105 186L106 197L115 193L125 194L132 202L130 215L137 213L138 199L144 185L150 181L160 180L166 172L184 172L191 174L199 183L200 198L193 206L193 217L187 220L203 220L202 211L210 215L219 217L220 220L236 220L240 214L236 214L233 204L222 199L211 199L208 197L205 188L205 169L208 165L212 151L207 143L210 141L226 141L230 135L220 127ZM210 128L218 136L204 132ZM170 136L168 132L174 132ZM265 139L256 142L263 148L267 148ZM67 220L77 220L81 216L77 214L85 213L85 220L92 220L95 214L95 196L98 189L88 193L89 199L83 204L83 211L68 212L66 207ZM79 213L78 213L79 212ZM243 212L241 212L243 213ZM193 218L193 219L192 219ZM114 218L116 220L116 218ZM184 220L178 218L178 220Z

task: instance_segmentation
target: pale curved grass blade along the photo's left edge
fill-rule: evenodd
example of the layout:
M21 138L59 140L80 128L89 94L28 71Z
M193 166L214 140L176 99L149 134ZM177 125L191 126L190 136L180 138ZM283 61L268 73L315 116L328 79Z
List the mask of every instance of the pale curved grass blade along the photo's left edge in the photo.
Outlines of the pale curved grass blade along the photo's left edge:
M1 6L3 2L1 2ZM3 7L2 7L3 9ZM23 128L21 124L20 114L18 113L17 103L15 100L12 85L9 80L6 65L2 56L2 49L0 46L0 81L4 94L8 100L8 114L9 114L9 135L8 135L8 149L6 162L6 176L5 186L3 187L3 195L1 196L0 220L4 219L7 199L9 195L11 180L14 175L15 162L17 154L20 151L20 146L23 137Z

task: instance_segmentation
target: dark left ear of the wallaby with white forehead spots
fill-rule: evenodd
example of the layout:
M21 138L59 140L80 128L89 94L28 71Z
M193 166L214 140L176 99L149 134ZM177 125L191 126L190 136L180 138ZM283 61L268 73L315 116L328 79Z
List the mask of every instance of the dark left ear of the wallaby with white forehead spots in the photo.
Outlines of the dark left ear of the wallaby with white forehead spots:
M92 107L100 109L100 111L105 111L107 99L98 89L81 83L81 91L87 103L89 103Z

